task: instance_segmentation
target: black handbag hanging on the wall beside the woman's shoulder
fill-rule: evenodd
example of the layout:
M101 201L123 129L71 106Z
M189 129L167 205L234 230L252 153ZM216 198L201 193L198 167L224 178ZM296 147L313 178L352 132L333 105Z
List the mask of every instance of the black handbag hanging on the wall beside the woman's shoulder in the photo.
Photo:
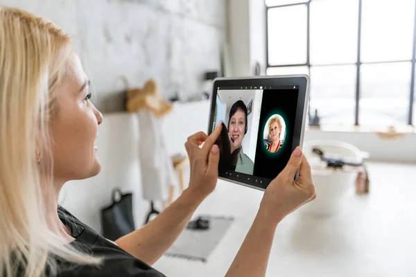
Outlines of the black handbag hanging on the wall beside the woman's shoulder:
M120 188L112 190L112 204L101 210L101 226L103 236L113 241L135 231L132 193L123 194Z

